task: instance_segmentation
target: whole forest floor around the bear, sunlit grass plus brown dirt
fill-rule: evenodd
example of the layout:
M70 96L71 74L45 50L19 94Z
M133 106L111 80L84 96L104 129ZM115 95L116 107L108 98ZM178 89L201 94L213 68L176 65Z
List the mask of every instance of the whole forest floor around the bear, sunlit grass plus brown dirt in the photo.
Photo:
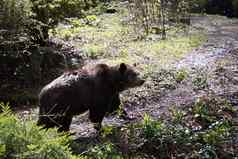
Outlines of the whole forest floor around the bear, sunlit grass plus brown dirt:
M151 36L149 42L146 39L138 42L116 24L122 17L106 14L103 18L111 26L99 24L96 31L93 26L73 32L59 27L62 34L57 34L57 39L86 53L84 64L138 63L138 69L147 77L142 87L121 94L129 118L108 116L103 125L120 127L140 121L145 114L166 117L172 108L184 109L203 96L219 96L238 106L238 19L194 15L189 32L182 38L169 37L161 42L157 36ZM109 31L104 32L105 27ZM19 114L37 116L36 112L32 109ZM87 114L74 118L71 131L77 137L95 133Z

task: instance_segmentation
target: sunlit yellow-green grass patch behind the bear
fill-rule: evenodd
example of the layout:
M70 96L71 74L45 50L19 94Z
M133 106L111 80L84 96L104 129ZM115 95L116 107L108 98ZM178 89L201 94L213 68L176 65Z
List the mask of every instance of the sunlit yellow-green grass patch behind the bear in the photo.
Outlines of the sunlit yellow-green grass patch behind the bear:
M127 16L125 9L119 9L115 14L91 15L93 18L89 24L85 23L85 19L73 19L71 27L57 28L55 36L82 49L85 57L97 58L108 64L141 63L144 72L170 65L206 41L206 35L201 32L179 35L177 28L176 31L168 31L166 40L138 40L132 26L123 21ZM150 66L152 68L148 68Z

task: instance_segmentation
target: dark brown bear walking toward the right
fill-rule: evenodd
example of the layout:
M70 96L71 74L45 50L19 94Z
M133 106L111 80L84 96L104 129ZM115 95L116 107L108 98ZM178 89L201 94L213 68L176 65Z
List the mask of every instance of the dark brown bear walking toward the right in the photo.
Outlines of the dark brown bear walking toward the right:
M68 131L73 116L89 110L89 119L99 130L106 113L118 109L119 93L144 82L125 63L97 64L90 69L65 72L41 90L38 125Z

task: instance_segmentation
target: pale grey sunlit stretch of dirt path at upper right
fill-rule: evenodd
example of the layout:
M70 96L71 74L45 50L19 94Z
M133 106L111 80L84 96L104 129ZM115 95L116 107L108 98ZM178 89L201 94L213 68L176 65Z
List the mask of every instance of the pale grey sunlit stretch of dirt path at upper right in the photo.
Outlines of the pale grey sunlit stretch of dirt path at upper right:
M216 18L216 19L214 19ZM207 30L208 41L177 63L178 68L213 67L218 58L238 48L238 20L224 17L194 17L193 25Z

